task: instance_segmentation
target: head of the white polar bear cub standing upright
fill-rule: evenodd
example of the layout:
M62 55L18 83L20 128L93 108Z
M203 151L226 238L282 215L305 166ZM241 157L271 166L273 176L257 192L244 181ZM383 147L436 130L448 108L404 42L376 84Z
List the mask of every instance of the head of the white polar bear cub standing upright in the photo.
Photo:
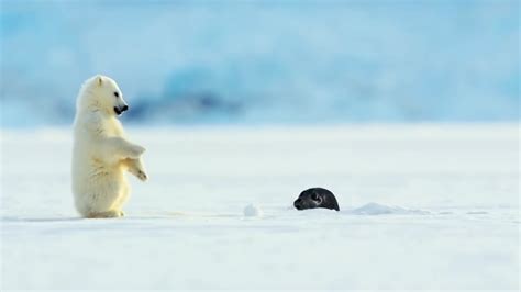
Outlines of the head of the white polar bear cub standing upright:
M110 77L97 75L88 79L81 88L79 109L95 109L109 115L120 115L129 110L123 93Z

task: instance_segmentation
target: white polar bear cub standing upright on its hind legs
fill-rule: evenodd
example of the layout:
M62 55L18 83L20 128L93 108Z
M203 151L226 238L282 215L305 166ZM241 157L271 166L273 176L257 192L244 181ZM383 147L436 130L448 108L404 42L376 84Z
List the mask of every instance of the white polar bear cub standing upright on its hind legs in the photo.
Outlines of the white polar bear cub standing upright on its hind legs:
M130 171L145 181L141 155L145 148L130 143L117 119L129 106L109 77L95 76L81 86L76 102L73 149L73 193L85 217L120 217L130 187Z

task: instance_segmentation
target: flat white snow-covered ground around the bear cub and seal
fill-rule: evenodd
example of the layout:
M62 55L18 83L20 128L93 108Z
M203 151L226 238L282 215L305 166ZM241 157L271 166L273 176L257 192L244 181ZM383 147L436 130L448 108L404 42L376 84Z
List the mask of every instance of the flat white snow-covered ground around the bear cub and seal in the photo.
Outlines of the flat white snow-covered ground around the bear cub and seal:
M118 220L75 213L68 130L0 133L2 291L520 288L518 124L130 128Z

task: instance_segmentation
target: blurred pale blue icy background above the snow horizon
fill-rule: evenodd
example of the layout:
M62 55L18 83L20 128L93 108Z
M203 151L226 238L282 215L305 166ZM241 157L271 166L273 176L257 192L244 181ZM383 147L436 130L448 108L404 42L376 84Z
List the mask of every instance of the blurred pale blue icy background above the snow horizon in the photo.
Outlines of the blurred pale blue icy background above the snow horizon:
M2 126L519 121L518 1L2 1Z

